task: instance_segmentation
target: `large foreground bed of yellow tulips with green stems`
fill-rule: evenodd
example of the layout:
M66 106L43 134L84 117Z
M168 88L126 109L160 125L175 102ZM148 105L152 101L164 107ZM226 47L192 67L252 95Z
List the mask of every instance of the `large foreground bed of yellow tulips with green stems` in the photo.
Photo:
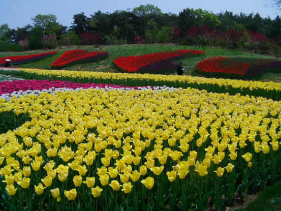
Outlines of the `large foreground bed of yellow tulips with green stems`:
M280 101L192 88L0 101L11 121L30 118L0 140L2 200L15 206L36 192L30 203L48 201L53 210L78 197L84 209L160 209L180 199L180 207L205 209L210 196L220 207L222 196L230 203L237 191L273 182L281 168Z

